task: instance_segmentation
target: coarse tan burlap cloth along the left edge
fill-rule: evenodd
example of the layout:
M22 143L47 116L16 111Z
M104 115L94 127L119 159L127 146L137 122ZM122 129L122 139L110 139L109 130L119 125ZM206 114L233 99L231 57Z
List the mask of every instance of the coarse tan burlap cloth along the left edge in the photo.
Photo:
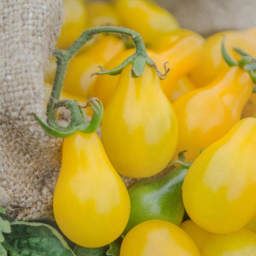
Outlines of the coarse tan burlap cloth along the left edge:
M61 10L61 0L0 1L0 204L16 219L52 216L61 140L33 113L45 113L44 67Z

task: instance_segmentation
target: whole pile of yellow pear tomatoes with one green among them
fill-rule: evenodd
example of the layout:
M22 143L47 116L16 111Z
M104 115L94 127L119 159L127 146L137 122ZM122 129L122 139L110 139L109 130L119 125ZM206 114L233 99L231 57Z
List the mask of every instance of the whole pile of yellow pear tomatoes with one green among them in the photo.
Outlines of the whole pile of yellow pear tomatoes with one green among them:
M81 132L64 139L53 201L63 233L84 247L122 236L120 256L256 255L255 70L239 62L256 56L256 29L203 38L147 0L64 0L64 11L59 49L90 27L123 26L139 32L158 70L169 72L161 79L146 65L134 78L128 64L116 76L90 77L133 54L119 35L94 37L70 61L62 99L85 105L97 97L104 115L101 140ZM232 65L221 53L223 35ZM166 166L164 176L129 189L117 174L145 178Z

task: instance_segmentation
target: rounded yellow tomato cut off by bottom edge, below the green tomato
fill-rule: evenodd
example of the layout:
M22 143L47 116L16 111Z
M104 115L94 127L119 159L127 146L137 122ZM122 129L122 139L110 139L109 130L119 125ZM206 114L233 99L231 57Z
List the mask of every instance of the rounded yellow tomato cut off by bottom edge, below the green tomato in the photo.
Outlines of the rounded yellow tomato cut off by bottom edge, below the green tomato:
M194 241L168 221L151 220L132 228L122 241L120 256L200 256Z

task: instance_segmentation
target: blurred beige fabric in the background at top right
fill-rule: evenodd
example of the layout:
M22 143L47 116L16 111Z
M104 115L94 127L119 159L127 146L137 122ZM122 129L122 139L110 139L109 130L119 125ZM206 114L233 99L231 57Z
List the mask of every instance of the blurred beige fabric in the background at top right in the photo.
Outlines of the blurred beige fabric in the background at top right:
M256 0L156 0L181 27L201 35L256 26Z

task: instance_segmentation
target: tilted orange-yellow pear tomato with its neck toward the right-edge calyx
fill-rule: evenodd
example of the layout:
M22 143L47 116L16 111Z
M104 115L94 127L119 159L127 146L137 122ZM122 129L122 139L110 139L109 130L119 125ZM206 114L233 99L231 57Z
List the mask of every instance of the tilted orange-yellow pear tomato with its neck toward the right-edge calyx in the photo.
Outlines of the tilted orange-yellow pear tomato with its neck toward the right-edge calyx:
M173 102L179 126L175 157L187 150L193 161L201 149L224 136L241 118L253 90L247 71L232 67L208 86L192 90Z

